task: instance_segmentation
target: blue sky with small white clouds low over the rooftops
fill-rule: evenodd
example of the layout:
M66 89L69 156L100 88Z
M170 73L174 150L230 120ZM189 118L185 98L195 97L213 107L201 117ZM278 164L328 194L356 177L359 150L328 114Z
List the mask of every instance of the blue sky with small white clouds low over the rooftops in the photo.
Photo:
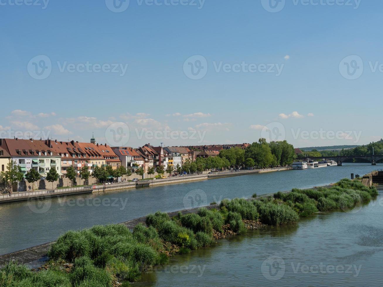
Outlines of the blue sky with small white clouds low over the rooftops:
M119 143L133 147L379 140L383 3L271 1L282 10L264 0L130 0L119 13L112 0L0 0L1 136L88 141L94 132L115 143L111 129L123 125ZM51 70L38 80L41 59ZM347 65L363 73L345 75Z

